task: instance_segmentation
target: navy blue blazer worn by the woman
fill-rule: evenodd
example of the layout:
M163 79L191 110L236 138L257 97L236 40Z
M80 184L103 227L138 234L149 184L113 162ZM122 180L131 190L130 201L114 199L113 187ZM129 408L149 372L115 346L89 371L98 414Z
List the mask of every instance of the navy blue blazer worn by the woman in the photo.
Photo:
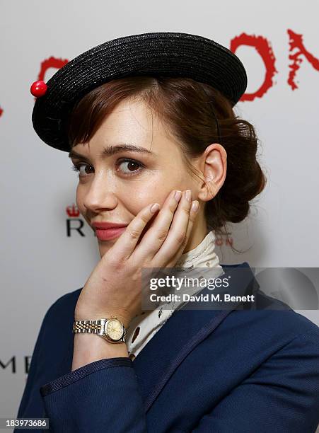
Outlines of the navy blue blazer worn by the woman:
M134 361L102 359L71 371L81 289L57 299L37 337L18 417L48 417L58 433L315 432L318 326L274 309L280 301L260 290L247 262L222 266L228 274L231 266L248 270L240 284L253 287L262 309L181 308Z

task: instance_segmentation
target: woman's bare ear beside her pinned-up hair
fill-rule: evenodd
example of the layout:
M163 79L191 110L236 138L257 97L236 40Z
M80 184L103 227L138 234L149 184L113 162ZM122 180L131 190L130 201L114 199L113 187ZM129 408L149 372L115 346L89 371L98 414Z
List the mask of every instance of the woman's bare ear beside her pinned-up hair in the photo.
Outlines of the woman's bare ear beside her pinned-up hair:
M213 199L226 179L227 154L219 143L210 144L200 158L204 180L199 185L197 197L203 202Z

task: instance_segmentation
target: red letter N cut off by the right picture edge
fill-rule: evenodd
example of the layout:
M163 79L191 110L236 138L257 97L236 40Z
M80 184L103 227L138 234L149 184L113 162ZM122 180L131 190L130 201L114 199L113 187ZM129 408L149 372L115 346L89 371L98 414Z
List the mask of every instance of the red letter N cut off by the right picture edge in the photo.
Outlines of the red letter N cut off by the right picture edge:
M308 62L313 66L316 71L319 71L319 60L313 57L313 55L306 50L306 48L303 46L303 35L297 35L297 33L294 33L292 30L287 30L289 35L289 52L292 52L296 48L295 54L289 54L289 59L292 60L292 63L289 64L289 77L288 77L288 84L291 86L292 90L295 90L298 88L296 85L294 79L296 76L296 71L300 68L300 64L303 61L301 58L301 54L306 57Z

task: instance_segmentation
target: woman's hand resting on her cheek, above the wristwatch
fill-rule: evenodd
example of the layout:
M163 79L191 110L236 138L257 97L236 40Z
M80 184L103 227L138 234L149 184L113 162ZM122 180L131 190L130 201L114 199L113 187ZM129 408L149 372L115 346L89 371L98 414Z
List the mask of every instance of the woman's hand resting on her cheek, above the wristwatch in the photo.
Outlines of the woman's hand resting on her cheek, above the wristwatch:
M174 267L185 249L197 216L197 211L191 209L197 200L191 202L191 197L187 200L185 192L181 199L176 200L175 192L170 192L142 238L146 224L154 217L152 205L141 209L103 255L81 290L76 304L76 320L114 315L127 328L132 318L141 313L141 269Z

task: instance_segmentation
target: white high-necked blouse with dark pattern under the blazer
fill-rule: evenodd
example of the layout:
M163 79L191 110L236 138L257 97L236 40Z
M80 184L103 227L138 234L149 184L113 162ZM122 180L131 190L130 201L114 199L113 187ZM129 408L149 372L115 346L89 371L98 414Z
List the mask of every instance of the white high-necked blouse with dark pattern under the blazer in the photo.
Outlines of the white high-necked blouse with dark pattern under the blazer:
M193 250L187 251L180 256L175 267L180 267L182 270L190 270L192 267L214 267L214 277L224 273L223 268L219 265L219 258L216 255L215 249L216 236L214 231L209 231L201 243ZM177 275L178 271L174 273ZM209 278L211 272L209 271ZM183 287L182 293L195 294L204 287ZM127 328L127 350L129 357L134 359L137 357L143 347L151 340L153 335L166 323L168 318L172 316L173 311L178 310L181 306L187 304L187 301L172 301L166 304L161 304L154 310L142 312L129 323Z

